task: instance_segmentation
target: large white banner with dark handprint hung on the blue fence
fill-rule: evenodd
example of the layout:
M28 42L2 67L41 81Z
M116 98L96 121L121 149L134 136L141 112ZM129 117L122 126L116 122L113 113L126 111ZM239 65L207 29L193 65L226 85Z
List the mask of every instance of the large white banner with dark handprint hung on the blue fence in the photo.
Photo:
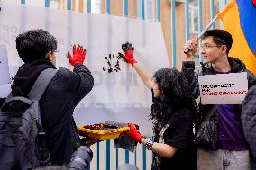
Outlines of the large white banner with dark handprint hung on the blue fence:
M1 8L0 43L7 46L11 77L23 64L15 49L15 37L23 31L43 29L57 38L57 67L70 68L67 51L73 44L81 44L87 49L85 63L95 86L76 108L77 124L133 122L139 124L142 134L151 135L151 91L132 67L116 57L122 43L129 41L138 63L151 75L169 67L160 22L4 2Z

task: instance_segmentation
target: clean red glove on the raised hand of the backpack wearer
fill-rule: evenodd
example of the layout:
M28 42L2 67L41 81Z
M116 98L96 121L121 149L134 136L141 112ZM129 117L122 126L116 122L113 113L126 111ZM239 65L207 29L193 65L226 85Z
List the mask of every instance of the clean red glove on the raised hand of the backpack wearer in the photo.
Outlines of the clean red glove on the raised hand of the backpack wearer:
M86 58L87 49L83 49L83 46L73 46L73 56L68 52L69 63L72 66L76 64L83 64Z

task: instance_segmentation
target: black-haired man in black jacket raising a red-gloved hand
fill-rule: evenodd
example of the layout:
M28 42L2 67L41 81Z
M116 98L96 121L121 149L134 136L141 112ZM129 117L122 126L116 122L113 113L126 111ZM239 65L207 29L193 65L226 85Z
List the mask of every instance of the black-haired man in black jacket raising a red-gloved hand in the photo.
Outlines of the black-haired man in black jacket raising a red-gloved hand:
M12 94L28 96L32 85L42 70L54 68L57 40L49 32L31 30L16 38L16 49L24 64L14 77ZM47 145L53 165L69 163L71 154L80 142L73 112L81 99L93 88L91 72L83 65L86 50L73 47L73 55L68 53L73 72L60 67L51 79L40 100L41 119L47 131Z

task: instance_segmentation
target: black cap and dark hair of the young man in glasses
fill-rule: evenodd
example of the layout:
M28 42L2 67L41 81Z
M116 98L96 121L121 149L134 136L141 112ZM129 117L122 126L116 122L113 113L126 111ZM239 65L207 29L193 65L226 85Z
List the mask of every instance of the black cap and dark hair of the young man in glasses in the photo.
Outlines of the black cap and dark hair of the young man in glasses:
M226 54L229 53L229 50L232 47L233 39L232 39L232 35L228 31L224 31L220 29L207 30L203 34L202 40L210 36L213 37L213 40L216 44L225 45L227 47Z

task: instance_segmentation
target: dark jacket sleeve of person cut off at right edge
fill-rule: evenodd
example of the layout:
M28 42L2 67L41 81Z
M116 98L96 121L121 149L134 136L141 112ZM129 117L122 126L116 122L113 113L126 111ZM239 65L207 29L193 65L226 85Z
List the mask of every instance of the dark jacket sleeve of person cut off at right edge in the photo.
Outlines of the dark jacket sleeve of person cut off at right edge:
M242 127L251 155L256 160L256 78L252 80L252 86L242 103Z

